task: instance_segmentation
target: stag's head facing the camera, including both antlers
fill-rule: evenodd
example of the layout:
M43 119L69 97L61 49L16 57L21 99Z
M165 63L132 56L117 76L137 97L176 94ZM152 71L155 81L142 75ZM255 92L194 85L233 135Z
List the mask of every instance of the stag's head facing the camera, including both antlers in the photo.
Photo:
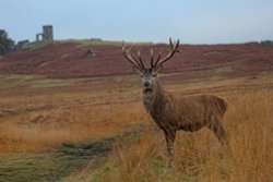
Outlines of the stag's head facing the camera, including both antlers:
M156 60L154 60L154 51L153 49L151 49L151 68L145 68L142 62L141 52L138 51L138 54L135 56L131 52L132 47L126 48L126 46L123 45L123 57L131 64L133 64L133 70L136 71L136 73L139 73L139 75L141 76L142 85L144 88L151 88L157 81L157 72L161 71L163 64L170 58L173 58L176 52L180 52L178 50L179 40L173 41L169 38L169 52L165 57L162 57L162 52L159 52Z

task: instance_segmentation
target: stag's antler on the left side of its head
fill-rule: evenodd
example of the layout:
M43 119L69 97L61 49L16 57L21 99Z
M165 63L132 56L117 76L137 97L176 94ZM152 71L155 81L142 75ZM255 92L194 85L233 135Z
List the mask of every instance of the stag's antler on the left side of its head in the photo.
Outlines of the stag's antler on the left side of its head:
M141 52L139 51L138 52L138 58L131 53L131 49L132 49L132 46L130 48L126 48L126 45L122 46L122 53L124 56L124 58L131 62L134 66L139 68L139 69L144 69L144 64L142 62L142 59L141 59Z

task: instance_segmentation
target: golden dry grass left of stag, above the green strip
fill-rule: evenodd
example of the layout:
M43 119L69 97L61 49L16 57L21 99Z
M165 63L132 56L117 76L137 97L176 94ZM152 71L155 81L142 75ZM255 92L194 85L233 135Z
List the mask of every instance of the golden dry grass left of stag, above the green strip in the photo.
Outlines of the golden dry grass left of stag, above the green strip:
M41 92L29 98L1 99L2 110L8 111L1 110L2 116L0 111L0 153L36 153L130 131L146 116L127 94Z

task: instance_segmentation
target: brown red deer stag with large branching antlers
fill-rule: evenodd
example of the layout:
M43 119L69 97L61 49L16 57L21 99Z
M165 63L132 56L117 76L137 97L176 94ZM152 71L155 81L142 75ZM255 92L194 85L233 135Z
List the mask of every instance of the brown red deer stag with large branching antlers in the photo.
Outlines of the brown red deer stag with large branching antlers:
M207 126L217 136L221 144L227 144L227 135L222 126L222 119L226 112L227 104L224 99L213 95L180 96L163 90L157 72L163 64L174 57L178 50L179 40L169 39L170 51L162 58L154 60L151 49L151 68L146 69L142 62L140 51L131 52L131 48L123 45L123 57L133 64L139 73L143 86L143 104L156 124L163 130L167 144L169 165L173 158L173 145L176 132L179 130L195 132Z

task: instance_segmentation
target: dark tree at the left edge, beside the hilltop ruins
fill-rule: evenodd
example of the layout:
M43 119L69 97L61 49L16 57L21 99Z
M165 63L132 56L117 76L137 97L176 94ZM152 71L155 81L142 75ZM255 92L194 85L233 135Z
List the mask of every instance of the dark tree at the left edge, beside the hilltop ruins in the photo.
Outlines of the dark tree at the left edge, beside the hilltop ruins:
M0 29L0 54L11 51L14 47L14 41L9 38L4 29Z

